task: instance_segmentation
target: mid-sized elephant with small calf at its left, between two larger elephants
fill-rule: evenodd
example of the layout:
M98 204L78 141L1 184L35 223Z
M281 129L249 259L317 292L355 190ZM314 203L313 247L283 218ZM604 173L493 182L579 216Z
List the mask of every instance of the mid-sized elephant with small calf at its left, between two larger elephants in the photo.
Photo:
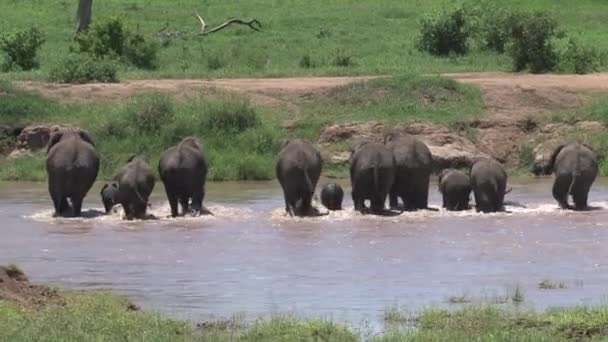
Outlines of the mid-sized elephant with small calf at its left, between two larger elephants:
M148 163L140 156L131 156L114 180L118 182L116 199L122 205L127 220L144 219L148 198L156 183Z

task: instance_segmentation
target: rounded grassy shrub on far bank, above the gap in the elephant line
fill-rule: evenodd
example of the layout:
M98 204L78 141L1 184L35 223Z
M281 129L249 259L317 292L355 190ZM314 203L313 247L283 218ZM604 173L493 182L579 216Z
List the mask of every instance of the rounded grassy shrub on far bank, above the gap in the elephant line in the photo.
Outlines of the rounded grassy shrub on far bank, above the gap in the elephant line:
M203 118L206 129L224 132L242 132L257 124L257 113L247 99L210 102Z

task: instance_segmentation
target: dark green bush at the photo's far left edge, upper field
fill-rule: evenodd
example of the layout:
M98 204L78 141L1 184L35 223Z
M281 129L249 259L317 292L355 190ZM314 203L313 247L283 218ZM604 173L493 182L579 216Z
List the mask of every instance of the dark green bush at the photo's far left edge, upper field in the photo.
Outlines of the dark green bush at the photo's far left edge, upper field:
M0 50L4 55L2 71L38 68L38 49L44 41L44 35L35 27L0 36Z

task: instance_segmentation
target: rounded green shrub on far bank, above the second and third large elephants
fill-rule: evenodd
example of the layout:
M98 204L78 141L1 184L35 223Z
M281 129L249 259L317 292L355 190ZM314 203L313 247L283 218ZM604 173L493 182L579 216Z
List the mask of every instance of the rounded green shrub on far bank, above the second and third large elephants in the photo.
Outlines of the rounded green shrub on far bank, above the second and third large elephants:
M127 104L127 120L142 132L157 132L175 119L173 99L163 94L136 96Z

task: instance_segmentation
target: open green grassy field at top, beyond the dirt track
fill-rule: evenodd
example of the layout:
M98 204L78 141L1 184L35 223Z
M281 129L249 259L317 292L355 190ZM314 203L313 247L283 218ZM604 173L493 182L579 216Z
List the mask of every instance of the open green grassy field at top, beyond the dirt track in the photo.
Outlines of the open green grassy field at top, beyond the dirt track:
M608 50L608 2L601 0L509 0L506 7L547 10L571 36ZM93 20L119 16L134 30L159 40L167 26L182 38L163 44L155 71L123 69L119 77L234 77L437 73L509 70L504 55L473 51L464 57L435 58L415 47L419 20L434 10L455 6L445 0L381 1L195 1L108 0L94 2ZM0 0L0 31L40 28L47 38L41 68L0 74L6 79L45 78L67 54L75 27L73 1ZM231 27L196 37L198 11L208 27L228 17L257 18L263 32ZM308 62L303 63L303 59Z

